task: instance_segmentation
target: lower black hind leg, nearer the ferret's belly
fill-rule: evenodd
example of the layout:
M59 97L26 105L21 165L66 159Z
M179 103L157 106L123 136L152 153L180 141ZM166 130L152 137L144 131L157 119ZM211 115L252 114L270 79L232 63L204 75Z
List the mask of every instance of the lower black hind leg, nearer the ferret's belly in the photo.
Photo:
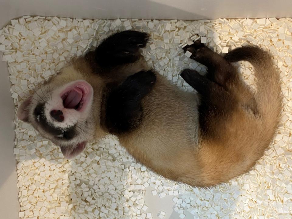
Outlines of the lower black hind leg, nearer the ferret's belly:
M200 95L198 108L202 136L208 138L218 136L216 127L231 115L237 105L237 101L224 88L200 75L195 70L185 69L180 75Z

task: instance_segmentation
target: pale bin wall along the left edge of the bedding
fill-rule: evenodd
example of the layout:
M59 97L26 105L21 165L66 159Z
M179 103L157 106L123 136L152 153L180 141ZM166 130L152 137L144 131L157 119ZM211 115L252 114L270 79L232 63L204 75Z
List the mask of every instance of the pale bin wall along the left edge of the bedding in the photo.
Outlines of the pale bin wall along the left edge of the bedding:
M0 57L2 57L1 52ZM2 197L0 199L0 217L18 218L16 160L13 154L15 139L13 119L15 113L9 91L8 76L7 63L0 61L0 196Z

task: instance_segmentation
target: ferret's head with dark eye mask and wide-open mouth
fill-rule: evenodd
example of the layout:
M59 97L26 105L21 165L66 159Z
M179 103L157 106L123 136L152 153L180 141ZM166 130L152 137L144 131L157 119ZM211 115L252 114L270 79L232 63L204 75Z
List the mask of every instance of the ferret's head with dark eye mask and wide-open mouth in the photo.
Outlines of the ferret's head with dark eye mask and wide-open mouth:
M82 71L69 65L21 104L18 118L72 158L100 133L100 101L93 100L101 99L101 89L100 78L85 64Z

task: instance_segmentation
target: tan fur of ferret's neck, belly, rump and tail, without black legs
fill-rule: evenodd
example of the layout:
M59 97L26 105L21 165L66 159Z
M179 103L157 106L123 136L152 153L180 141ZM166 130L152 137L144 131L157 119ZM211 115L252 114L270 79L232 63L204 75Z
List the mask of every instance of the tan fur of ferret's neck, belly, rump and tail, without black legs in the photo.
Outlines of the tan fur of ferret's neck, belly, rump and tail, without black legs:
M257 94L254 96L239 77L230 82L228 91L235 96L236 105L228 116L211 121L214 129L211 137L200 133L198 95L183 92L157 74L153 90L142 99L140 126L119 134L121 145L154 172L191 186L213 186L248 172L273 139L282 103L279 72L268 53L262 50L258 53L256 59L249 60L255 67ZM93 132L90 140L99 140L107 134L103 126L106 83L120 83L149 67L141 56L133 64L107 70L97 67L94 72L89 64L90 54L87 57L65 66L46 85L45 92L79 79L89 82L94 90L91 115L94 126L86 128ZM109 76L103 77L103 73ZM37 128L37 124L33 125Z

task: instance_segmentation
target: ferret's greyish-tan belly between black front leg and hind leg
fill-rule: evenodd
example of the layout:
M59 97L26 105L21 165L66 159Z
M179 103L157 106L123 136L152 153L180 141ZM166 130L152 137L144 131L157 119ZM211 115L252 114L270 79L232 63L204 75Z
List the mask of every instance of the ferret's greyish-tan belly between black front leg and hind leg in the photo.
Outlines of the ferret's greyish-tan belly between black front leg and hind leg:
M143 121L130 134L118 135L121 145L150 169L178 180L188 169L185 152L191 152L189 161L196 159L197 104L195 93L183 92L157 75L155 87L142 103Z

